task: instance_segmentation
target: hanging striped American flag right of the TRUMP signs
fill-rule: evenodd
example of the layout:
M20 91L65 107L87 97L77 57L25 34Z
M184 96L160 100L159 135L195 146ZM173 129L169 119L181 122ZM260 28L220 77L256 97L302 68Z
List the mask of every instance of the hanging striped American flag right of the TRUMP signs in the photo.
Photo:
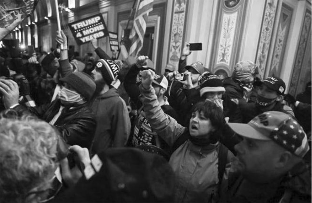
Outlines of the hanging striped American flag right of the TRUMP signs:
M154 0L138 0L133 27L129 36L131 47L129 55L136 57L143 47L144 34L149 12L153 10Z

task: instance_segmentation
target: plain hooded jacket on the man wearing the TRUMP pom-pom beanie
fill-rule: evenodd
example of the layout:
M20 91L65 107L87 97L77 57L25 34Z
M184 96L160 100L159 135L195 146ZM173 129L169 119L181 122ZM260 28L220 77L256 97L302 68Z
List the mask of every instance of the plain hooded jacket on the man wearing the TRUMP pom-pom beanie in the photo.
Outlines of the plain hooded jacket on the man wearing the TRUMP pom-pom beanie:
M97 127L91 152L98 153L109 147L124 147L130 134L130 118L125 101L111 87L90 102L95 113Z

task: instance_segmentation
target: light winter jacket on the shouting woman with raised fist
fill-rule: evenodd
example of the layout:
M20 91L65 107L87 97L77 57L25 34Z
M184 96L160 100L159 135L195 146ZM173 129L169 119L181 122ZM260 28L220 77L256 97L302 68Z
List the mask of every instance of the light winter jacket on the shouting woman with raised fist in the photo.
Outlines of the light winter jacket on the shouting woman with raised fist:
M166 115L159 106L155 90L139 86L146 117L152 128L169 146L173 146L183 134L189 134L187 128ZM171 155L169 164L176 174L176 202L215 201L218 193L218 148L220 144L199 147L186 140ZM228 154L231 154L228 151ZM230 155L223 177L227 177L230 168Z

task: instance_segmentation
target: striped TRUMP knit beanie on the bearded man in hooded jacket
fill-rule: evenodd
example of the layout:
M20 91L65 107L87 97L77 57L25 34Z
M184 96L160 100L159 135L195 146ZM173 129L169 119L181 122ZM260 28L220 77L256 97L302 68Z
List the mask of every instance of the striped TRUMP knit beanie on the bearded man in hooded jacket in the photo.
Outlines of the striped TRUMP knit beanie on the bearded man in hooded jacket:
M96 62L96 67L101 70L104 81L110 85L119 73L119 66L112 60L99 59Z

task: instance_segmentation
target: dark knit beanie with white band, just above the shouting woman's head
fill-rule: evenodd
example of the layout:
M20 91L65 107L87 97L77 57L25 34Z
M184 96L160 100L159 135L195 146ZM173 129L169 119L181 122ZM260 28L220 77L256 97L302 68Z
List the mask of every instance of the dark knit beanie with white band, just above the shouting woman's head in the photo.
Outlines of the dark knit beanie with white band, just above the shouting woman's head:
M214 74L205 72L199 80L201 97L207 92L225 92L223 81Z

